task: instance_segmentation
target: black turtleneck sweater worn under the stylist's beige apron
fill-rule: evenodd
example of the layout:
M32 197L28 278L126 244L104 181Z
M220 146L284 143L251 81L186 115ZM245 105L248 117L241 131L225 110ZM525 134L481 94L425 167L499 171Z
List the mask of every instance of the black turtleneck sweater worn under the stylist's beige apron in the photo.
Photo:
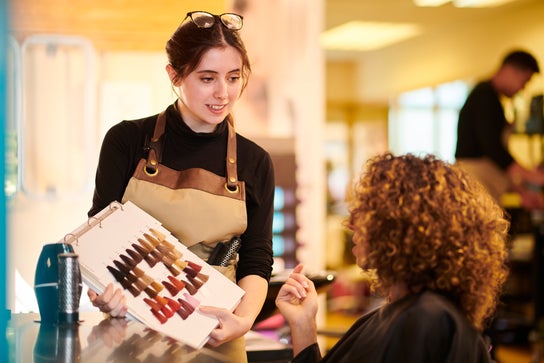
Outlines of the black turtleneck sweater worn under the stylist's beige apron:
M145 158L146 142L153 135L158 115L122 121L104 137L96 170L93 205L89 217L113 201L121 201L136 165ZM162 164L175 169L202 168L226 175L228 127L226 121L212 133L196 133L174 105L166 110ZM239 251L236 278L258 275L266 280L272 272L272 217L274 169L270 155L254 142L237 134L238 178L246 185L247 229ZM190 206L188 206L190 208Z

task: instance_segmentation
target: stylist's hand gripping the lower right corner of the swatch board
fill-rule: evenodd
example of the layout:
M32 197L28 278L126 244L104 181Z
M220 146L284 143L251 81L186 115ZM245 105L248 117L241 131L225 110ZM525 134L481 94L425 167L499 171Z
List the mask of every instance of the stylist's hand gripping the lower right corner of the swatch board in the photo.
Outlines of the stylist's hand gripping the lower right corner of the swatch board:
M221 344L241 337L251 329L252 319L245 319L227 309L214 306L200 306L200 312L207 315L213 315L219 320L217 328L210 333L210 339L207 344L211 347L218 347Z

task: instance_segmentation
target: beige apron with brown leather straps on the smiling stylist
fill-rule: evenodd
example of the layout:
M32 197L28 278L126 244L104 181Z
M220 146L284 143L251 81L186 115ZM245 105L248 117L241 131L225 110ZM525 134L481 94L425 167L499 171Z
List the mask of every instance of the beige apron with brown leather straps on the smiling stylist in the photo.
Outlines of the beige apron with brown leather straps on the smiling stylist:
M165 125L165 113L161 112L148 158L139 161L122 202L130 200L142 208L207 260L217 243L240 236L247 227L245 183L238 180L236 169L236 132L229 120L225 178L204 169L177 171L160 164ZM235 259L228 267L214 267L235 281ZM247 361L243 337L214 350L227 355L229 361Z

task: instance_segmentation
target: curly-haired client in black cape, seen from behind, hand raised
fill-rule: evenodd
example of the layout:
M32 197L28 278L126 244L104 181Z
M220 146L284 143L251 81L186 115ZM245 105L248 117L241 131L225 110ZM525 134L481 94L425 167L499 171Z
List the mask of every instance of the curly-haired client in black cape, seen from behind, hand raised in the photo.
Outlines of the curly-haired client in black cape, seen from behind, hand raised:
M387 303L321 360L317 293L297 266L276 298L293 362L490 362L481 332L508 273L509 222L485 189L432 155L385 153L369 160L349 206L353 254Z

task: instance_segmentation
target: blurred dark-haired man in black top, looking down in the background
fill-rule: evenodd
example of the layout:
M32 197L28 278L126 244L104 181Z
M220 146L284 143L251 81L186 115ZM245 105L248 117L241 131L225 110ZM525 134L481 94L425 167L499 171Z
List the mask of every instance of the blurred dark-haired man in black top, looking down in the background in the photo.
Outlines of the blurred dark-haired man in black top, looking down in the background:
M476 176L495 199L500 201L504 193L513 191L528 210L544 208L544 171L522 166L508 150L512 126L501 98L514 97L539 72L530 53L508 53L493 76L478 83L465 101L459 113L455 150L456 163Z

